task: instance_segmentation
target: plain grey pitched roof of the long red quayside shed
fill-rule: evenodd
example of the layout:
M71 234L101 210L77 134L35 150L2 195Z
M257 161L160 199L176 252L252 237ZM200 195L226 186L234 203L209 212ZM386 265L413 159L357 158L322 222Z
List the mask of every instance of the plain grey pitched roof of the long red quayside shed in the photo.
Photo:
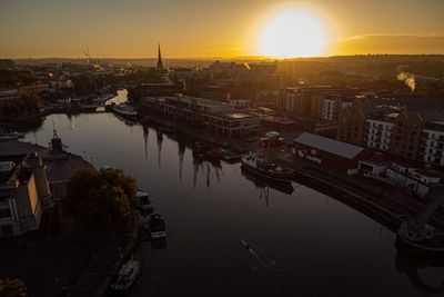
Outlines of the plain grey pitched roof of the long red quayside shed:
M347 159L355 158L361 151L364 150L364 148L362 147L309 132L303 132L302 135L296 137L296 139L294 139L294 142L324 150Z

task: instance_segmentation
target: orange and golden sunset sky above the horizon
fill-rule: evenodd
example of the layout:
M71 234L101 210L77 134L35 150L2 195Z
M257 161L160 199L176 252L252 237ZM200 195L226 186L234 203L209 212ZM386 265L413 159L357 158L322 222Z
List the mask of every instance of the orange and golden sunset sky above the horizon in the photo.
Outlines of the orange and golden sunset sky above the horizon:
M444 53L444 0L0 0L0 24L1 58Z

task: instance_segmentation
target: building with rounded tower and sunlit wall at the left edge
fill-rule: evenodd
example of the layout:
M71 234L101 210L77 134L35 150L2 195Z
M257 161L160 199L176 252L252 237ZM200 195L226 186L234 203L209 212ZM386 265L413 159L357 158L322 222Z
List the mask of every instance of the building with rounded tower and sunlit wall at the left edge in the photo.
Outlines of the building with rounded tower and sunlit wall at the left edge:
M18 164L0 162L0 238L38 229L43 210L52 206L47 168L37 152Z

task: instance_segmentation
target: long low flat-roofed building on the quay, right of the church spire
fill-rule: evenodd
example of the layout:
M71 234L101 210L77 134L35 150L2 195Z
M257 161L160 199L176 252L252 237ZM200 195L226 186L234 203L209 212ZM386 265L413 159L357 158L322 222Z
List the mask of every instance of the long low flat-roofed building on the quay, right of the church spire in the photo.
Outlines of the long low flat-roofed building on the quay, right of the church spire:
M144 97L141 103L145 113L173 123L181 122L205 132L225 137L241 137L260 132L260 118L239 112L234 106L196 97Z

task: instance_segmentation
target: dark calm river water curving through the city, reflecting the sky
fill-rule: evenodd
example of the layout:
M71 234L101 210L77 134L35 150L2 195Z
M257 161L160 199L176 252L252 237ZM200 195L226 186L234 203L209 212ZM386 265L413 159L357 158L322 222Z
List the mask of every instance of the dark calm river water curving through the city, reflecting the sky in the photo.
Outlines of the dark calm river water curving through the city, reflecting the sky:
M47 146L53 127L68 151L135 176L165 218L165 247L143 244L131 296L425 296L422 283L444 279L443 267L402 257L392 231L316 189L196 162L186 139L112 113L48 116L24 140Z

